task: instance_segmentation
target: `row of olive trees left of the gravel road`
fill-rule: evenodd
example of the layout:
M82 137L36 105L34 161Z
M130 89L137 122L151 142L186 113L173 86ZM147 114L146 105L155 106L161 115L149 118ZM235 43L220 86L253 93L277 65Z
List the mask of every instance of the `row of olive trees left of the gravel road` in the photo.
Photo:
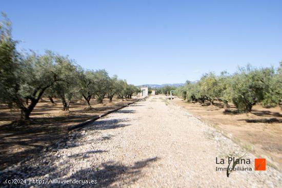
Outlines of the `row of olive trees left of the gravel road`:
M84 70L68 56L52 51L43 55L35 52L20 53L12 38L11 24L4 15L0 23L0 102L11 109L21 110L21 119L29 116L42 97L61 99L63 110L68 111L71 100L82 99L90 107L95 96L103 103L108 97L131 98L139 88L128 85L117 76L109 77L105 70Z

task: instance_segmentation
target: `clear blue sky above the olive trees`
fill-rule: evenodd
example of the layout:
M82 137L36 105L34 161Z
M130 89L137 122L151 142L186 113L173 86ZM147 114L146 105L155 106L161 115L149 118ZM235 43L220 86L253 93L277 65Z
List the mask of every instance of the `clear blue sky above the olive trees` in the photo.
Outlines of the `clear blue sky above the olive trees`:
M278 67L282 1L0 0L18 49L53 50L134 85Z

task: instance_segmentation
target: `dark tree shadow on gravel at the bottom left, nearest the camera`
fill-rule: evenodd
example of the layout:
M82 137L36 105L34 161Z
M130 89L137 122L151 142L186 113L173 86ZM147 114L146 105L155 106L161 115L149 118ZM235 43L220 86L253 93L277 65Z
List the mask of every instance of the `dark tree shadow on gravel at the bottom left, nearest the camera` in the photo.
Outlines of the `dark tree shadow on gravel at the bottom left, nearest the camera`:
M94 157L107 151L91 151L69 156L65 161L58 163L58 158L52 161L43 160L40 163L30 163L21 166L16 171L8 171L5 176L0 176L0 183L5 185L6 179L21 177L23 179L39 179L45 177L51 180L96 180L97 184L72 184L72 187L126 187L133 184L142 177L142 169L151 163L159 160L158 157L147 158L134 162L133 165L125 165L122 161L107 161L100 164L89 163L86 169L79 169L76 164L68 163L70 158L75 161L85 161L87 158ZM61 158L60 158L61 159ZM79 162L77 162L78 164ZM80 167L81 168L81 167ZM31 184L35 185L35 184ZM69 187L71 184L61 184L62 187ZM41 185L42 186L42 185ZM9 187L9 186L8 186ZM44 187L56 187L56 184L44 185Z

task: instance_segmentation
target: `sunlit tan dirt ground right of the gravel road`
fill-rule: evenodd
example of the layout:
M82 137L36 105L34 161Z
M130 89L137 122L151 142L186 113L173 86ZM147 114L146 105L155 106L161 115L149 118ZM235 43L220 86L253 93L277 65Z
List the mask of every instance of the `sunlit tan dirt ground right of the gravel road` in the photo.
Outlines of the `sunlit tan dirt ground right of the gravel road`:
M228 134L234 141L258 156L267 157L282 169L282 111L280 107L253 107L251 113L239 114L230 104L230 112L225 113L223 103L215 101L214 106L188 103L174 98L173 103L187 109L193 115L209 122Z

